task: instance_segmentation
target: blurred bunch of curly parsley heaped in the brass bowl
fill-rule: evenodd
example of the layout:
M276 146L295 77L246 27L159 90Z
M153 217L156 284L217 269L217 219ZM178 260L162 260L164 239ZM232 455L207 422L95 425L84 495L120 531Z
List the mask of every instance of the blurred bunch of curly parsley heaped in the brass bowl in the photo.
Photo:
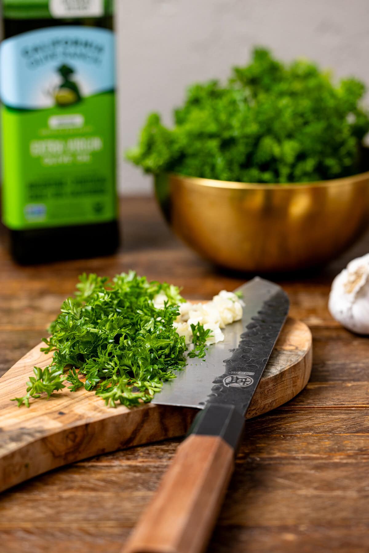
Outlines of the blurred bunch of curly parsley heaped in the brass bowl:
M234 67L226 85L195 84L166 128L149 115L127 159L147 173L240 182L308 182L358 172L369 130L360 106L365 86L332 82L329 72L297 60L283 64L262 48Z

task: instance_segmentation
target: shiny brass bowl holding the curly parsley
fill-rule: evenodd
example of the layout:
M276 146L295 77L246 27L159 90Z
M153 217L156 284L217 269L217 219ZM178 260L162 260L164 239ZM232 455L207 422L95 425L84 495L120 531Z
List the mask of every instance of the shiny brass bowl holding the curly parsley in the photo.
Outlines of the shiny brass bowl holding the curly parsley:
M191 248L246 272L321 265L369 222L369 171L303 184L246 184L159 175L162 211Z

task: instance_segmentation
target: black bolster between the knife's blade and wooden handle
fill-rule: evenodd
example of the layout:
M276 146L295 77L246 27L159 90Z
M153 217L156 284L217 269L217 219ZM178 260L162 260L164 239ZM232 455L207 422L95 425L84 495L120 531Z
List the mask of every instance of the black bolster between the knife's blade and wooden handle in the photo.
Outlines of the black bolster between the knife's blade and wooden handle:
M244 426L245 417L235 405L209 403L196 415L189 434L220 436L237 451Z

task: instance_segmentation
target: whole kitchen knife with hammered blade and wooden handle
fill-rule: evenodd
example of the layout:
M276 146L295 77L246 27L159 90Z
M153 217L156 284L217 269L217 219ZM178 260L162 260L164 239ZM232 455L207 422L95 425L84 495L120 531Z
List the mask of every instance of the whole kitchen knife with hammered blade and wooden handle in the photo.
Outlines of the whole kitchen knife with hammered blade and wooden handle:
M288 314L287 294L254 278L235 291L242 320L225 328L205 361L188 359L153 403L201 409L123 553L200 553L210 539L264 368Z

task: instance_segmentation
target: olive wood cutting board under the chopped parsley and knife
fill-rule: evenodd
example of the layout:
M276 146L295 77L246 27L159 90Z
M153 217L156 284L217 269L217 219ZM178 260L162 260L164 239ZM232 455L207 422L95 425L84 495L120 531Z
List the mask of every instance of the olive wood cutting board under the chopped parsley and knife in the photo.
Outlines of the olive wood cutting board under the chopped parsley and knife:
M39 344L0 378L0 491L67 463L125 447L186 434L197 409L145 404L105 406L84 388L67 388L30 408L10 401L24 395L33 367L46 367L51 354ZM274 347L247 418L266 413L298 394L311 372L311 333L288 319ZM201 370L201 369L199 369Z

